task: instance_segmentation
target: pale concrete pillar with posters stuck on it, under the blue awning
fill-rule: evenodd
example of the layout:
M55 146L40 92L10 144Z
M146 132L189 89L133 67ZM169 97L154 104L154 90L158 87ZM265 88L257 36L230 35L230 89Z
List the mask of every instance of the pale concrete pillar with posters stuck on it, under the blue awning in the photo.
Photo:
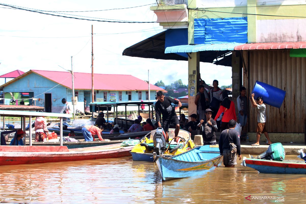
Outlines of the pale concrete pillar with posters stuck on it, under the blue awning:
M197 86L199 82L200 73L200 53L192 52L188 53L188 115L196 114L196 104L194 100L196 98ZM188 117L190 121L191 118Z

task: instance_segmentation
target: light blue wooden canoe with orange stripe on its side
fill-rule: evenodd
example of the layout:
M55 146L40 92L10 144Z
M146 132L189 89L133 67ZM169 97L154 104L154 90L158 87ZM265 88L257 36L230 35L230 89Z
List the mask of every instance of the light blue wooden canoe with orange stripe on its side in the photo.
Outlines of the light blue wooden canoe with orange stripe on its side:
M162 180L203 175L215 169L223 161L216 145L204 145L172 157L157 156L154 160L162 174Z

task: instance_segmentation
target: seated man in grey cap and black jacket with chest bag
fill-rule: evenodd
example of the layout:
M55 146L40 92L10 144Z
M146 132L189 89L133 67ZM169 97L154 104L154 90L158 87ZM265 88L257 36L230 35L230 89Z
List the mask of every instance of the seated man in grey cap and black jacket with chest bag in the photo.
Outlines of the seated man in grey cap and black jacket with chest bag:
M201 120L197 126L197 129L200 130L203 127L202 137L203 137L203 145L216 145L216 134L218 128L217 123L214 119L212 119L213 111L209 108L205 110L205 118Z

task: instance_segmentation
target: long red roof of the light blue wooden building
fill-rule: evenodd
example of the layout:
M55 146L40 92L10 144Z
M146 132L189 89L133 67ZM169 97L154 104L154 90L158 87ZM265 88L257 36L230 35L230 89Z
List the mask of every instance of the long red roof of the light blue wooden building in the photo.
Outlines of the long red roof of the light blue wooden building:
M24 76L31 72L54 81L55 83L60 83L64 87L72 88L72 77L69 72L30 70L29 72L26 72ZM14 80L10 82L13 81ZM74 72L74 89L91 90L91 73ZM148 90L148 84L144 80L138 79L132 75L94 74L94 89L112 91ZM163 91L162 88L153 84L150 84L150 90Z

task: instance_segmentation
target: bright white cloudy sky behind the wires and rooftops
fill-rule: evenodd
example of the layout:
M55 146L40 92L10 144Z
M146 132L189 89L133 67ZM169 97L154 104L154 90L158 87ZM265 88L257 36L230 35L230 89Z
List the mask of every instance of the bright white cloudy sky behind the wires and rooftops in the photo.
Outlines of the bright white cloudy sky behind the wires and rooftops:
M65 16L77 18L154 22L157 18L154 12L150 11L150 6L154 6L155 3L155 0L3 0L0 4L9 4L29 10L43 10L44 13L48 13L45 11L56 11L57 13L53 14L65 14ZM115 9L135 6L140 7ZM65 12L105 9L115 10ZM91 25L93 25L95 73L131 74L147 80L147 72L150 69L150 82L153 84L158 80L170 84L178 79L185 84L188 83L187 61L122 56L125 48L162 32L163 29L158 23L76 20L9 9L2 5L0 5L0 18L2 19L0 75L16 69L24 72L30 69L65 71L59 66L71 69L71 56L73 56L75 72L91 72ZM230 67L201 62L200 72L207 83L210 81L212 83L213 79L219 80L219 85L232 83ZM0 79L0 84L3 83L4 79Z

